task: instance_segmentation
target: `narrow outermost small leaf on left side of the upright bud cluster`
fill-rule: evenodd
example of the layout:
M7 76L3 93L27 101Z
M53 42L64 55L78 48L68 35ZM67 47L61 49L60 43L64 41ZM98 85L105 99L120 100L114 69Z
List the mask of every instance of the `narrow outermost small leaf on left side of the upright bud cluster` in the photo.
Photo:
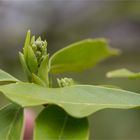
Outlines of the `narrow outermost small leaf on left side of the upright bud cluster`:
M22 65L22 68L23 68L25 74L27 75L28 79L30 80L32 77L32 74L31 74L30 70L28 69L28 66L26 65L24 55L21 52L19 52L19 59L20 59L20 63Z

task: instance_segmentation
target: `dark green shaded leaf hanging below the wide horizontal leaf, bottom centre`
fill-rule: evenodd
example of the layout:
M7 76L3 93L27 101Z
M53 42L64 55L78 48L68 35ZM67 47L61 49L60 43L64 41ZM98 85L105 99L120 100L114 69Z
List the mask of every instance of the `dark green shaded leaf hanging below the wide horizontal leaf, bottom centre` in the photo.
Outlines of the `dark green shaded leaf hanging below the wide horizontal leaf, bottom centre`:
M87 118L76 119L61 108L45 108L35 121L34 140L88 140Z

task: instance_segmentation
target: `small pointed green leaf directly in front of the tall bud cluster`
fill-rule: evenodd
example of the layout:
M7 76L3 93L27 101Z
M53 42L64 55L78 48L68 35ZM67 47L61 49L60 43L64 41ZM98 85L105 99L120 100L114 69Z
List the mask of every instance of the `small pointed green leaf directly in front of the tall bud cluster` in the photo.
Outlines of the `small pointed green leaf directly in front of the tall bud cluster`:
M36 72L37 68L38 68L38 62L37 62L37 58L34 54L34 51L32 49L31 46L27 47L27 60L26 63L30 69L31 72Z

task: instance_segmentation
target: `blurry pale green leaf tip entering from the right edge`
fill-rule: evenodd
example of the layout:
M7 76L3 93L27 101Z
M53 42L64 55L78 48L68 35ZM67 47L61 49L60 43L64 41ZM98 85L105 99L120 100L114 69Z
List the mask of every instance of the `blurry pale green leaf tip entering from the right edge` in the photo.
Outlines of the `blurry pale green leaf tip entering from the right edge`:
M127 69L118 69L114 71L110 71L107 73L108 78L130 78L130 79L137 79L140 78L140 72L134 73Z

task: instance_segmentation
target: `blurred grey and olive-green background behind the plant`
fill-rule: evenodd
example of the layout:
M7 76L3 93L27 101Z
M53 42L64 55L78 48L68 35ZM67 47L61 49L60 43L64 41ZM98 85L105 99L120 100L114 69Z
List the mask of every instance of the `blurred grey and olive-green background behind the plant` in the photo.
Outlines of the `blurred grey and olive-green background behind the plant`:
M1 0L0 68L19 79L25 79L18 52L28 29L47 39L50 54L82 39L108 39L111 47L122 50L121 56L96 68L58 77L67 75L84 84L114 84L140 93L140 80L105 77L116 68L140 71L139 0ZM6 102L1 95L0 105ZM89 121L91 140L140 139L140 110L106 109L91 115Z

